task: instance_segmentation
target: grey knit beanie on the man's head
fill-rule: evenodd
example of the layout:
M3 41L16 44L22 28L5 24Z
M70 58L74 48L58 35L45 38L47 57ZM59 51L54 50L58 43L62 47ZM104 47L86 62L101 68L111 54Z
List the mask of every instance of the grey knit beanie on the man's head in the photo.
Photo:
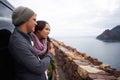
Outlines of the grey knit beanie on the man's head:
M12 23L16 27L18 27L21 24L27 22L33 16L33 14L34 14L33 10L27 7L20 6L13 11Z

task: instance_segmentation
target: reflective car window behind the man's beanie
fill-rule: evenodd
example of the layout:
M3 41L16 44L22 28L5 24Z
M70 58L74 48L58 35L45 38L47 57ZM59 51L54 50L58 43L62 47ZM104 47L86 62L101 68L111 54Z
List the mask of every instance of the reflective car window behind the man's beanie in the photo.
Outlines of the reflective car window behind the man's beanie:
M11 15L12 10L6 4L0 2L0 30L13 31L14 25L12 24Z

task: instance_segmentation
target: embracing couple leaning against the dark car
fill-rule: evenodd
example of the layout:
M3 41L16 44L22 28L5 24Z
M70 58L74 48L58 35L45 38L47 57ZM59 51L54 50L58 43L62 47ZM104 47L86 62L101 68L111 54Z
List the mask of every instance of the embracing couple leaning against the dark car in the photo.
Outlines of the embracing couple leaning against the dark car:
M48 38L50 26L45 21L36 22L36 16L22 6L12 14L15 29L9 51L14 59L15 80L52 80L53 75L58 80L54 46Z

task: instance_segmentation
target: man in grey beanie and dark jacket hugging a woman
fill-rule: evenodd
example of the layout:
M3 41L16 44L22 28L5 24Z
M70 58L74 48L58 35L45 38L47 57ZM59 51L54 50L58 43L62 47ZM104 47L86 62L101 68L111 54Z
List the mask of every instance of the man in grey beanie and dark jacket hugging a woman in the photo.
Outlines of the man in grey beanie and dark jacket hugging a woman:
M9 50L15 63L15 80L47 80L45 70L49 67L54 49L40 59L33 49L29 33L34 31L36 14L29 8L18 7L13 11L15 25L10 37Z

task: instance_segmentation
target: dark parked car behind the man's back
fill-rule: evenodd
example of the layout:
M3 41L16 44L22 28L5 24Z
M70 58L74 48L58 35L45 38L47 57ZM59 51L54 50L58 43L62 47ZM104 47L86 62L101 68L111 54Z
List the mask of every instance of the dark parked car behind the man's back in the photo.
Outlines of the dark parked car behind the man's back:
M13 10L7 0L0 0L0 80L14 80L13 61L8 50L9 38L14 30L11 20Z

